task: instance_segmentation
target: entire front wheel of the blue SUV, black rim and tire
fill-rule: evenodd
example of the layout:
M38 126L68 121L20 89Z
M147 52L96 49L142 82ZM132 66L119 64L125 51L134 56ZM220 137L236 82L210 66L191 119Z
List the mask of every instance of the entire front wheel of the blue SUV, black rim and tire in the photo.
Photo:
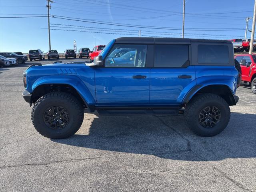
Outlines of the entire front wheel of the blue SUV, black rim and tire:
M36 130L47 138L68 138L82 125L84 109L71 94L52 92L37 100L31 120Z

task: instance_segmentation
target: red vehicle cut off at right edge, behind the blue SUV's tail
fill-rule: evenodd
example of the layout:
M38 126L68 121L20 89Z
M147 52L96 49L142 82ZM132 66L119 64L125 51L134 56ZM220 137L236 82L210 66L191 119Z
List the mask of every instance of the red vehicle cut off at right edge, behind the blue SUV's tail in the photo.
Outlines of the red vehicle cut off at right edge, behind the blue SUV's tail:
M235 56L235 59L241 65L242 83L250 85L256 94L256 54L241 54Z

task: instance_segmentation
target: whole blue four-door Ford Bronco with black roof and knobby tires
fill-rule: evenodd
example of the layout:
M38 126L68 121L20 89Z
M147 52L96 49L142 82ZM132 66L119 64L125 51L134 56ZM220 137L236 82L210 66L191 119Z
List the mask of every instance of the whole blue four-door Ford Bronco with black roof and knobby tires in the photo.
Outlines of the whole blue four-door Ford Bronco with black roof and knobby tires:
M207 137L228 125L238 78L230 41L117 38L94 62L31 65L23 98L47 138L75 134L84 112L184 115L190 130Z

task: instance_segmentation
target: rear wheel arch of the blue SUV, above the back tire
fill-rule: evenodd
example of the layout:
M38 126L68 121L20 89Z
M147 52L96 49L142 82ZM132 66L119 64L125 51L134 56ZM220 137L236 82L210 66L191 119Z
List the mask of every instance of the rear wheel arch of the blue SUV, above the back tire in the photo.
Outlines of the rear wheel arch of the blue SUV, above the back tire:
M187 104L194 96L203 93L212 93L222 97L229 106L236 105L236 98L229 86L225 84L212 84L207 86L196 85L188 92L183 100L183 104Z

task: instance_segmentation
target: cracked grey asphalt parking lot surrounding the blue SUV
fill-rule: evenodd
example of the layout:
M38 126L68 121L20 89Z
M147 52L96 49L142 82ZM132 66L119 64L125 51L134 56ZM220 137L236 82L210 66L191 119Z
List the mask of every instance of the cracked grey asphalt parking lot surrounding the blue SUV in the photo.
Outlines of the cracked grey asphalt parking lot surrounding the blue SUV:
M74 136L50 140L36 132L22 98L23 71L49 62L0 68L1 192L256 191L256 95L250 88L238 88L228 127L211 138L192 134L182 115L85 114Z

